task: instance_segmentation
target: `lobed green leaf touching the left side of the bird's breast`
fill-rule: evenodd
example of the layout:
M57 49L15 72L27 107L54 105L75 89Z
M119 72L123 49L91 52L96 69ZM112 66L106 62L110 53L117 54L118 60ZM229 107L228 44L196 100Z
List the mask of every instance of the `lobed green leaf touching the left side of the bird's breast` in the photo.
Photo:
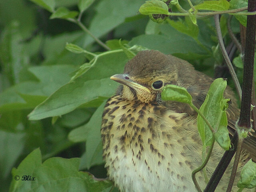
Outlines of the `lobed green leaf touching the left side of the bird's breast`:
M94 112L90 121L72 130L68 134L68 139L72 142L86 142L86 158L82 158L81 164L84 168L89 169L96 164L102 164L102 142L100 136L101 116L106 102L103 102Z

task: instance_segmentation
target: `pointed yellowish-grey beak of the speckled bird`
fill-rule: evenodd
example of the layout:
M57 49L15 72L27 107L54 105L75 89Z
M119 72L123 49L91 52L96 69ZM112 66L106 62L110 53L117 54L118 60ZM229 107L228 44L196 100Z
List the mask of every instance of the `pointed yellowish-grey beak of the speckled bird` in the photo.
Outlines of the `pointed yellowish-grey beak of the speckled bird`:
M134 90L141 89L141 90L151 93L148 88L142 86L141 84L134 82L130 78L129 74L116 74L116 75L111 76L110 79L112 79L118 83L124 84L126 86L129 86L130 88L133 88Z

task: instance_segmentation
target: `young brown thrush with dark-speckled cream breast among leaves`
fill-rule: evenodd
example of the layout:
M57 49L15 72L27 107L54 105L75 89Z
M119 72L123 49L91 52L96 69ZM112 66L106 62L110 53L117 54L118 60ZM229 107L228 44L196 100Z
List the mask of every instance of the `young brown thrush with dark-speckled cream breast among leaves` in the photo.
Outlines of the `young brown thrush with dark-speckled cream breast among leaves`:
M197 113L188 104L162 100L161 92L168 84L184 87L200 108L214 79L187 61L157 50L138 52L126 63L123 74L110 79L120 83L102 114L103 158L110 180L121 192L196 192L191 173L202 164ZM240 112L236 96L227 86L224 97L232 100L227 117L229 128L234 128ZM238 173L248 158L256 159L255 141L244 146L247 152L242 152ZM206 166L208 178L223 153L215 144ZM231 170L230 165L216 191L226 191ZM204 189L203 172L196 178Z

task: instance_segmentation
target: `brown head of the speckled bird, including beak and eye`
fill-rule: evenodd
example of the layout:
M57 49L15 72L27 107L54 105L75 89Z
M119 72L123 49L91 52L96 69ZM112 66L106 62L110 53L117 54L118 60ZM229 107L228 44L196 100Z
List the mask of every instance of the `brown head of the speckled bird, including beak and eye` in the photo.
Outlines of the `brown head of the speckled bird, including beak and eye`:
M119 90L123 98L145 103L154 102L160 98L166 84L184 84L186 80L182 79L189 79L188 72L194 68L186 62L188 66L180 70L184 62L186 61L156 50L141 51L126 63L123 74L110 78L123 85Z

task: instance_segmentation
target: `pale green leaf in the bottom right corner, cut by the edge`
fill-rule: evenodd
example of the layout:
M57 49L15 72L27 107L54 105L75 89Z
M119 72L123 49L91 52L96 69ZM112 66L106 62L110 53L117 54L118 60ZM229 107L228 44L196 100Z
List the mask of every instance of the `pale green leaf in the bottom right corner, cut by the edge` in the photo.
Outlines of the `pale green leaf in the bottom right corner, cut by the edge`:
M250 159L242 168L237 186L239 188L248 189L256 187L256 163L252 162L252 159Z

